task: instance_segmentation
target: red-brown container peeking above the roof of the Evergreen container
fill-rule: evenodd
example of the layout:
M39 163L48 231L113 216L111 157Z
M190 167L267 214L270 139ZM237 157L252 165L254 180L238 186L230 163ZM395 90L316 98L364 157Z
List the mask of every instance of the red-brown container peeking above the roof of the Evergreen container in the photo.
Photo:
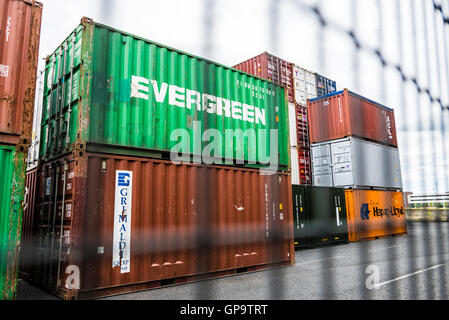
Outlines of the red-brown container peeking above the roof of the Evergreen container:
M254 58L246 60L234 66L234 69L252 74L256 77L267 79L287 88L288 101L294 102L293 89L293 64L278 58L268 52L264 52Z

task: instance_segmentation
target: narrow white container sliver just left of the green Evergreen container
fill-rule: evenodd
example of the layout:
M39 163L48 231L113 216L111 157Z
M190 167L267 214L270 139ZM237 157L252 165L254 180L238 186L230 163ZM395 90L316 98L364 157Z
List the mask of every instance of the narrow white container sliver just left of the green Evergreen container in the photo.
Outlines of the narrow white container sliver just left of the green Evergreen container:
M36 99L34 102L33 132L31 136L31 145L28 150L27 171L33 170L39 163L39 146L41 139L42 106L44 97L44 76L45 71L37 74L36 80Z

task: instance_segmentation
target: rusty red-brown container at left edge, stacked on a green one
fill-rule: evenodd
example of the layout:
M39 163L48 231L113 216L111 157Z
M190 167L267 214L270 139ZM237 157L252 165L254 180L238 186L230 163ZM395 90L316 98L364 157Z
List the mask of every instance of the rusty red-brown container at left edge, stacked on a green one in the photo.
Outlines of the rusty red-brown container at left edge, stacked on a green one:
M0 144L29 144L42 4L0 2Z

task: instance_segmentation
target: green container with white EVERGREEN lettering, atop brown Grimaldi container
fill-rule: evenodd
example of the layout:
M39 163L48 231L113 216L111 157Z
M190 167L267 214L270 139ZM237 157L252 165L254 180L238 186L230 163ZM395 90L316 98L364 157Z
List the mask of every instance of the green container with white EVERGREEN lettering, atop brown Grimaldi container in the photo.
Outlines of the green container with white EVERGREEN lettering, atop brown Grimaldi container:
M285 88L88 18L47 58L43 105L44 160L179 151L290 167Z

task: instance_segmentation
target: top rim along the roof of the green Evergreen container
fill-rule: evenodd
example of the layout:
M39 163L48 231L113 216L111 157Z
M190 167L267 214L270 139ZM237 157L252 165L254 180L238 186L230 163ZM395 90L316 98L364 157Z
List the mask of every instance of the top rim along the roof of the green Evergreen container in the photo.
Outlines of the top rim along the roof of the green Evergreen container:
M86 19L85 22L84 22L84 19ZM238 69L234 69L234 68L232 68L232 67L230 67L230 66L226 66L226 65L224 65L224 64L222 64L222 63L219 63L219 62L216 62L216 61L213 61L213 60L209 60L209 59L206 59L206 58L197 56L197 55L195 55L195 54L188 53L188 52L185 52L185 51L183 51L183 50L176 49L176 48L173 48L173 47L170 47L170 46L161 44L161 43L156 42L156 41L153 41L153 40L149 40L149 39L144 38L144 37L142 37L142 36L138 36L138 35L135 35L135 34L132 34L132 33L129 33L129 32L126 32L126 31L123 31L123 30L120 30L120 29L117 29L117 28L114 28L114 27L111 27L111 26L108 26L108 25L105 25L105 24L102 24L102 23L93 21L92 19L87 18L87 17L84 17L84 18L81 20L81 24L79 24L79 25L78 25L78 26L77 26L77 27L70 33L70 36L66 37L66 39L65 39L64 41L62 41L61 44L60 44L60 45L59 45L59 46L58 46L58 47L57 47L51 54L49 54L49 55L45 58L45 60L46 60L46 68L48 67L48 61L49 61L49 58L52 57L52 56L53 56L53 55L54 55L54 54L55 54L55 53L56 53L56 52L57 52L57 51L64 45L64 43L66 43L67 41L70 40L72 34L77 34L79 31L82 31L80 28L82 28L82 27L84 26L84 23L89 23L89 24L92 24L92 25L94 25L94 26L101 27L101 28L104 28L104 29L108 29L108 30L113 31L113 32L121 33L121 34L123 34L123 35L125 35L125 36L132 37L132 38L135 38L135 39L138 39L138 40L142 40L142 41L145 41L145 42L147 42L147 43L149 43L149 44L153 44L153 45L158 46L158 47L161 47L161 48L166 48L166 49L168 49L168 50L175 51L175 52L177 52L177 53L180 53L180 54L189 56L189 57L191 57L191 58L195 58L195 59L198 59L198 60L201 60L201 61L210 63L210 64L214 64L214 65L216 65L216 66L218 66L218 67L222 67L222 68L225 68L225 69L230 69L230 70L233 70L233 71L238 72L238 73L240 73L240 74L246 75L246 76L248 76L248 77L255 78L255 79L258 79L258 80L262 80L262 81L264 81L264 82L271 83L271 84L273 84L274 86L277 86L277 87L281 87L281 88L283 88L283 89L286 89L284 86L279 85L279 84L276 84L276 83L274 83L274 82L272 82L272 81L269 81L269 80L267 80L267 79L264 79L264 78L261 78L261 77L252 75L252 74L250 74L250 73L247 73L247 72L244 72L244 71L241 71L241 70L238 70Z

